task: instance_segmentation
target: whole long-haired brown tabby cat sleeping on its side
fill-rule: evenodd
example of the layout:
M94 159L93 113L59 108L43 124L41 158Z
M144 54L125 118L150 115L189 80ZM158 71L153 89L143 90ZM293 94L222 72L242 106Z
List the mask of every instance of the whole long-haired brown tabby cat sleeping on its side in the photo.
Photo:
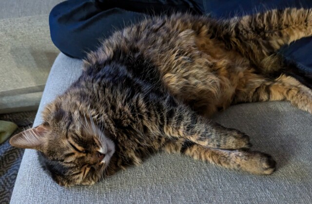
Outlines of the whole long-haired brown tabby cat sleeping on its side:
M268 175L273 158L213 122L231 104L287 100L312 113L312 90L279 48L312 35L312 9L233 19L176 13L117 31L90 52L83 73L48 104L43 123L10 140L38 150L64 186L92 185L158 151ZM307 81L307 80L306 80Z

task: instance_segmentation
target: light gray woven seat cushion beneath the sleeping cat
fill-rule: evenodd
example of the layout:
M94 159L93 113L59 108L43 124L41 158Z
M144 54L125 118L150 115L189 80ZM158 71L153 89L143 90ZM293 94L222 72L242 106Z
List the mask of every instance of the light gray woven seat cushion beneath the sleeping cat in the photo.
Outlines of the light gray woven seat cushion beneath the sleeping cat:
M79 60L60 54L45 87L39 112L80 74ZM270 176L215 167L160 153L140 167L120 171L93 186L65 188L26 150L11 203L310 203L312 201L312 115L288 102L236 105L215 119L251 136L254 149L273 155ZM35 125L40 123L38 113Z

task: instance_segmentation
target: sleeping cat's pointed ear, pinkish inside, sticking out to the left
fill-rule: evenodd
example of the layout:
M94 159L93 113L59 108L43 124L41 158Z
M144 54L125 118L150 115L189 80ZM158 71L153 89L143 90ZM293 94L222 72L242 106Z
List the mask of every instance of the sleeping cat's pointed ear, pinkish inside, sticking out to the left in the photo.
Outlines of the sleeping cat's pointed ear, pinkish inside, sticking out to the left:
M48 127L39 125L14 135L10 139L10 144L17 148L30 148L42 151L46 142L45 135L47 131Z

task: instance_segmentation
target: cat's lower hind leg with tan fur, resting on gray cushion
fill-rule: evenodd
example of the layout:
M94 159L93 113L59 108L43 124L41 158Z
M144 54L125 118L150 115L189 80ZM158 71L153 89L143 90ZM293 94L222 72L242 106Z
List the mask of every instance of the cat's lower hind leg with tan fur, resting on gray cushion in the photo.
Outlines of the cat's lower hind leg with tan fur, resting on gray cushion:
M281 74L276 79L250 79L246 90L237 92L234 103L257 101L290 101L303 111L312 113L312 90L292 76Z

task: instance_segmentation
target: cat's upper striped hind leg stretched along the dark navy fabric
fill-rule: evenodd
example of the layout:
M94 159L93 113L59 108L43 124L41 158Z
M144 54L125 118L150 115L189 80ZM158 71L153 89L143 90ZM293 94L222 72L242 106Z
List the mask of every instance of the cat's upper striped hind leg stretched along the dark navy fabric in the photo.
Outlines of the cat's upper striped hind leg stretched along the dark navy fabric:
M284 60L276 51L292 41L312 36L312 9L274 9L218 23L223 29L216 32L216 37L270 74L283 68Z

